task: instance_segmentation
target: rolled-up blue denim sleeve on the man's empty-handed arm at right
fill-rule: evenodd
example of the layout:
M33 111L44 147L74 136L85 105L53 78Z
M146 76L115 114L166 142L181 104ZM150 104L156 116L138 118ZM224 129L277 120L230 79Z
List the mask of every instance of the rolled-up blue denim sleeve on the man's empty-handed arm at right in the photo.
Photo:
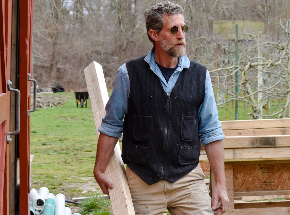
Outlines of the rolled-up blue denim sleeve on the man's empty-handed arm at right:
M209 72L206 72L204 101L198 109L199 133L202 145L225 138L215 103Z

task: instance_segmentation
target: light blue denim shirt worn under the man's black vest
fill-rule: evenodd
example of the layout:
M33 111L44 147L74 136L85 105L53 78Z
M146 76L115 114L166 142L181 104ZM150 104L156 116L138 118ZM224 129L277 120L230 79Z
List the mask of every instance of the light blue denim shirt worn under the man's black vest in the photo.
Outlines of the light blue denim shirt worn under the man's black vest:
M180 72L183 68L189 68L190 62L186 55L181 57L177 69L172 74L168 83L162 76L159 67L154 59L154 47L147 54L144 61L150 65L150 69L158 77L166 94L170 96L171 90L175 86ZM102 124L98 131L108 136L120 137L123 132L123 119L127 114L127 101L130 93L129 75L126 63L117 70L113 83L113 90L109 101L106 104L106 116L102 119ZM206 71L205 95L202 105L198 109L199 133L202 145L225 138L221 123L218 120L218 110L215 103L213 88L209 71Z

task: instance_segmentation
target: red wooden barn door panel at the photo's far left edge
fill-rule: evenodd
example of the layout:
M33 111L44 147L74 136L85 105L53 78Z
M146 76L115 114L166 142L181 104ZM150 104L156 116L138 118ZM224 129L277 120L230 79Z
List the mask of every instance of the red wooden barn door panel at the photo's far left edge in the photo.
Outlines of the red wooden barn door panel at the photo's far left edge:
M0 214L9 214L9 144L10 132L10 92L7 82L10 79L11 57L11 14L12 0L1 1L0 5Z

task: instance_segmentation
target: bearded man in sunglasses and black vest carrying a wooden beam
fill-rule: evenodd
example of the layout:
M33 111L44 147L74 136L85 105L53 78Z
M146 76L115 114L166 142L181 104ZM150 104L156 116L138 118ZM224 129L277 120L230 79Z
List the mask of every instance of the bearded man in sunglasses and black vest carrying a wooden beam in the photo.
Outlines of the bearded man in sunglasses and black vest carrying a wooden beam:
M155 3L145 20L154 46L117 71L98 129L95 179L105 194L113 189L105 170L123 132L122 159L136 214L163 214L166 208L172 215L222 214L229 202L224 134L209 72L185 54L188 26L180 5ZM212 206L198 163L200 141L216 180Z

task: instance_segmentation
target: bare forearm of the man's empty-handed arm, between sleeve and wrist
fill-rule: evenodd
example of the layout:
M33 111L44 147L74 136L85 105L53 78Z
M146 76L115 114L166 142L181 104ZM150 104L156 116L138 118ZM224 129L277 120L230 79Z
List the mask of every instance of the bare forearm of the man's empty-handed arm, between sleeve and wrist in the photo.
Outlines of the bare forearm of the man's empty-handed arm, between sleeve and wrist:
M224 144L222 140L204 145L209 164L213 171L216 184L225 184L224 175Z

